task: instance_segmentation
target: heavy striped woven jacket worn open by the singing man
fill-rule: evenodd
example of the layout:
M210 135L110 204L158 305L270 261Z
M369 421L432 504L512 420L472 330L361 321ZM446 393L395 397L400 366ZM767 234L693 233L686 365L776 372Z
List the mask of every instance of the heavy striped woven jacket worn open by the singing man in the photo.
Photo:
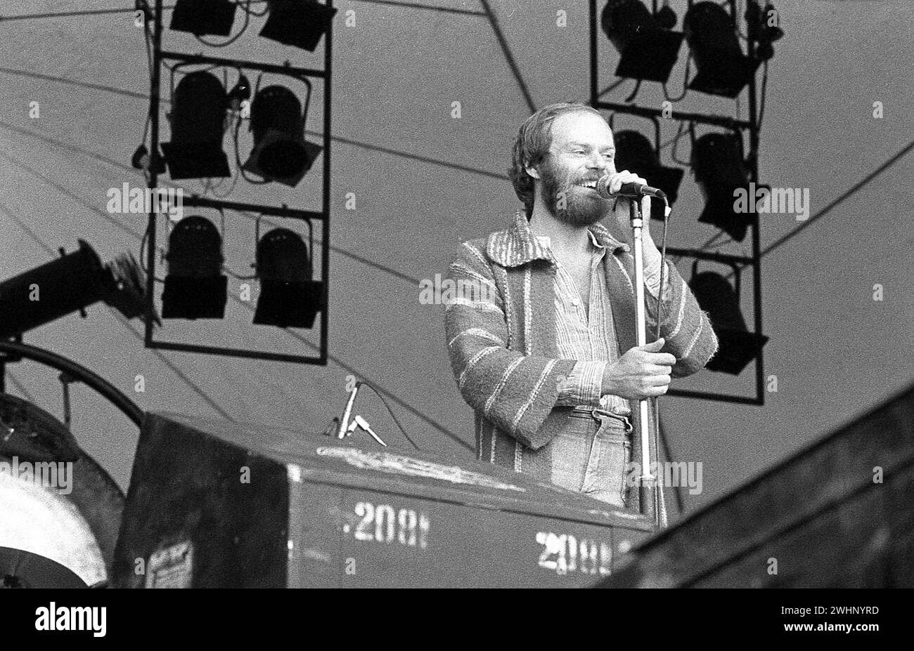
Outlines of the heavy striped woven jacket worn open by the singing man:
M622 355L636 345L634 258L630 247L605 226L589 228L609 249L603 268ZM717 352L717 337L685 279L674 265L665 264L663 352L675 355L672 375L684 377L703 368ZM525 447L548 454L547 443L572 409L556 405L560 383L576 360L557 359L555 273L524 211L518 211L508 229L462 243L448 272L451 287L458 290L442 301L452 371L476 415L477 457L516 471L524 469ZM653 333L658 299L645 294L648 332ZM653 341L652 334L648 341ZM637 401L631 406L638 432ZM653 413L650 426L655 431ZM652 447L653 441L652 432ZM632 459L640 458L640 443L634 436ZM657 459L656 450L651 452ZM637 510L637 490L628 503Z

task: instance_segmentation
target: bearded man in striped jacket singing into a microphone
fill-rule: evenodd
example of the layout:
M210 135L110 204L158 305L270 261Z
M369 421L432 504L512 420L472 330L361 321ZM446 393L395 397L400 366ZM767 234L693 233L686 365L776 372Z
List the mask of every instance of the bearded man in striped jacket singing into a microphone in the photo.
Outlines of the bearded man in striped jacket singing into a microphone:
M674 265L665 263L660 290L647 217L649 333L661 300L663 322L660 339L635 345L630 200L595 187L607 174L611 193L647 181L617 172L614 154L609 125L584 104L553 104L521 125L509 172L524 210L506 230L462 243L448 277L475 291L448 301L445 330L480 459L637 511L625 480L641 458L637 401L702 369L717 337ZM653 415L649 425L657 459Z

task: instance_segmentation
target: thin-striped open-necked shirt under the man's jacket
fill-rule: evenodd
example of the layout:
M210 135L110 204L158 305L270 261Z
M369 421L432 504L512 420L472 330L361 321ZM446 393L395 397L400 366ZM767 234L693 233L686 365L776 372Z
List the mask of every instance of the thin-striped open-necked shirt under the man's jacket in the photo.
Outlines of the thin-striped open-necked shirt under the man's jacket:
M619 359L619 342L612 322L610 289L606 285L606 247L590 236L590 295L584 309L578 286L552 252L548 236L536 236L556 265L556 347L560 357L578 360L558 393L556 404L597 406L620 415L632 415L629 401L618 395L601 394L607 364ZM660 287L660 264L645 268L645 285L656 297Z

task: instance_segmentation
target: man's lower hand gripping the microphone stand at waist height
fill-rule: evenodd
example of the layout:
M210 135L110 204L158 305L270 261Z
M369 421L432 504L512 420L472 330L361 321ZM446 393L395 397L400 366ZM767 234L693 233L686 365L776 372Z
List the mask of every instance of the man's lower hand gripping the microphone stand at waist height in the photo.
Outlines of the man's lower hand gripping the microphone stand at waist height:
M635 346L625 352L618 362L607 364L603 372L603 394L620 395L626 400L654 398L666 393L670 373L676 362L669 352L659 352L664 338Z

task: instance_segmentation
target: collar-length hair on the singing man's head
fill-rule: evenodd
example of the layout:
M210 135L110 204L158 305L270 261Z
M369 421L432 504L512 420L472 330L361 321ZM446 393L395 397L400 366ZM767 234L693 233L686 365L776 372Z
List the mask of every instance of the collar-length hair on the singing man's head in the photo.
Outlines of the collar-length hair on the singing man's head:
M520 125L514 148L511 152L511 167L508 176L515 186L517 198L524 202L526 218L533 215L533 200L537 194L534 179L526 173L526 167L536 167L543 162L552 144L552 122L566 113L589 112L600 116L600 111L576 101L549 104L531 115Z

